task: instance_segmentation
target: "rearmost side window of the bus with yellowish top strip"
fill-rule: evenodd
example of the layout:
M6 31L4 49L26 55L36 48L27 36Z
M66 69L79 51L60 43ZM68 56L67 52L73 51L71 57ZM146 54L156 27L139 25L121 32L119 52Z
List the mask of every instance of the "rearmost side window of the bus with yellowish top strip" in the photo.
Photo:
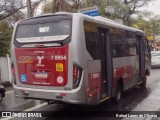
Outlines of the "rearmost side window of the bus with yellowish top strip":
M87 51L90 53L93 59L100 59L99 43L96 34L96 24L88 21L84 21L84 32Z

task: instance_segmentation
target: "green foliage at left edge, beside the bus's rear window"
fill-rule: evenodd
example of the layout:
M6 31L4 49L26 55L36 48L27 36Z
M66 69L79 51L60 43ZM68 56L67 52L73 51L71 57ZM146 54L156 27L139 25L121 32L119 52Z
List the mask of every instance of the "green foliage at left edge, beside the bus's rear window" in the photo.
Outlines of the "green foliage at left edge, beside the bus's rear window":
M10 42L12 37L12 27L7 22L0 22L0 56L6 57L10 54Z

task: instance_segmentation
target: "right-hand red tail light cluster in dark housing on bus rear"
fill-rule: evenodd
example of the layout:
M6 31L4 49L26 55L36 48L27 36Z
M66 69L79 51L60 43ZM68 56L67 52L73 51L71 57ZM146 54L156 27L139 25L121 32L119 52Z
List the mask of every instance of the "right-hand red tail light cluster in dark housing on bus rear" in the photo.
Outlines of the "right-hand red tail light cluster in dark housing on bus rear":
M82 76L82 68L78 65L73 66L73 88L77 88Z

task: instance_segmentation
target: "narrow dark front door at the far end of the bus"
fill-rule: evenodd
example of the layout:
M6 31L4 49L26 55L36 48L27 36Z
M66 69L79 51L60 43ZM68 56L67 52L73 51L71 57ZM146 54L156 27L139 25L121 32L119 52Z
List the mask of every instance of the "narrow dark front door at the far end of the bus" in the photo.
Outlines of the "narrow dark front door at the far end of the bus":
M138 55L139 55L139 78L138 82L145 77L145 53L144 53L144 41L142 36L137 36Z

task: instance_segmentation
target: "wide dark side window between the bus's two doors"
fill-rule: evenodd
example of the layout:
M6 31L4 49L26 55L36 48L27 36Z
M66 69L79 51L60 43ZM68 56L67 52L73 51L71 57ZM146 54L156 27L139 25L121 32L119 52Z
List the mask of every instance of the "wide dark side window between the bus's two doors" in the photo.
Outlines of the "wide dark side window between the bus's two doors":
M134 32L111 28L110 40L112 42L113 57L137 55L136 37Z

